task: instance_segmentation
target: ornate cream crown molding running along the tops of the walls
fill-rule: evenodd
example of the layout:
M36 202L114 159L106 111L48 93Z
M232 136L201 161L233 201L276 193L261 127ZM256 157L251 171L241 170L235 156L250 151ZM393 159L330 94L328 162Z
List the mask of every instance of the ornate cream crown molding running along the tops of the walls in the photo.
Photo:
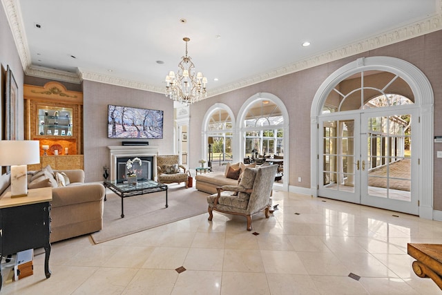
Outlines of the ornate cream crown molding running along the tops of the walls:
M100 82L105 84L112 84L115 86L123 86L128 88L140 89L143 91L151 91L155 93L163 93L164 88L160 86L155 86L151 84L146 84L144 82L132 81L129 79L112 77L108 75L102 75L99 73L90 72L86 69L78 69L77 73L64 72L61 70L53 70L50 68L44 68L39 66L33 66L31 64L30 51L28 46L28 41L26 39L26 34L24 32L24 25L21 17L21 10L18 0L1 0L3 8L6 12L8 18L8 23L12 30L12 36L14 37L17 50L21 59L21 64L26 75L34 77L43 77L46 79L61 80L64 82L71 82L80 84L83 79ZM439 0L438 11L436 15L432 17L427 17L421 21L416 21L410 25L396 28L387 32L383 32L380 35L376 35L367 39L360 41L355 41L352 44L336 48L334 50L329 50L325 53L315 55L304 59L302 61L297 61L296 63L289 64L280 68L270 70L266 73L260 73L240 81L234 82L228 86L213 88L207 92L207 97L212 97L215 95L220 95L222 93L227 93L234 91L239 88L244 88L246 86L251 86L253 84L258 84L260 82L265 82L269 79L275 79L284 75L291 73L296 73L300 70L305 70L307 68L312 68L314 66L319 66L321 64L327 64L331 61L336 61L337 59L343 59L345 57L350 57L352 55L357 55L359 53L367 52L368 50L373 50L376 48L381 48L390 44L398 43L400 41L405 41L407 39L412 39L414 37L419 37L421 35L428 34L430 32L435 32L442 29L442 0Z

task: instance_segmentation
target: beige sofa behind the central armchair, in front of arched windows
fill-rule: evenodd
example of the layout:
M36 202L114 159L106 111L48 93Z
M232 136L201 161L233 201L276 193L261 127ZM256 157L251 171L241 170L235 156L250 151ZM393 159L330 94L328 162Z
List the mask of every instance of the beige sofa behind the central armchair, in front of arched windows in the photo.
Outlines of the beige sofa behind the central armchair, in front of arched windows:
M217 193L216 188L222 187L224 185L238 185L238 179L234 178L228 178L227 173L229 171L229 168L232 167L233 169L240 169L240 171L244 171L245 167L251 167L253 168L255 166L255 163L253 164L244 164L242 162L231 164L227 163L226 169L224 172L212 172L212 173L204 173L204 174L198 174L195 176L195 188L198 189L198 191L204 191L205 193ZM239 175L238 175L239 176Z

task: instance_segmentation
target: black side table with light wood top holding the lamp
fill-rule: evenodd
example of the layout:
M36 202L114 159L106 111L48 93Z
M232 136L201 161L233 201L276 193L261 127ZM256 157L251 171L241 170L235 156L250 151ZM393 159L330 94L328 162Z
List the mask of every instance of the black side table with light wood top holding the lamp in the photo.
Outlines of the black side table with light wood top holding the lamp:
M44 272L50 277L50 202L52 188L29 189L28 196L11 198L6 193L0 199L0 257L27 249L44 247ZM1 277L0 259L0 290Z

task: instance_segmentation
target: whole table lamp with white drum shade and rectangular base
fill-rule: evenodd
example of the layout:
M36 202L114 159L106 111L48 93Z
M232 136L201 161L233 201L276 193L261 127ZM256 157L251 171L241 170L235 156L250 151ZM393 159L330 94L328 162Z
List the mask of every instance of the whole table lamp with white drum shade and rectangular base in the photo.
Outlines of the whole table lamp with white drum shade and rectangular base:
M40 162L38 140L0 140L0 165L11 166L11 198L28 196L28 166Z

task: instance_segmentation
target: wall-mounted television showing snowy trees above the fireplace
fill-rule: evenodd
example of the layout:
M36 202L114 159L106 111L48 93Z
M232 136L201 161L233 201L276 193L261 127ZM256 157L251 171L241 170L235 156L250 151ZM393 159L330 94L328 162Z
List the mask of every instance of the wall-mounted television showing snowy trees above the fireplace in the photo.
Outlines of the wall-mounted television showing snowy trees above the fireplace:
M109 138L162 138L163 111L108 105Z

